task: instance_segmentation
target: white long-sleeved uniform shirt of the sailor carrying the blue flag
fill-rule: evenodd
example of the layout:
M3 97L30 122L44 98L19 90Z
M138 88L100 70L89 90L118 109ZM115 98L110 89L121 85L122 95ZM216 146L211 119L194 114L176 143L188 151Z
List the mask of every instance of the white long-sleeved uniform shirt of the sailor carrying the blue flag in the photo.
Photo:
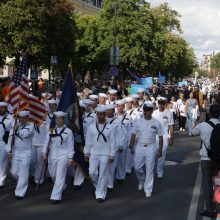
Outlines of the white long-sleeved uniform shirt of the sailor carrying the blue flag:
M74 138L72 131L64 126L62 128L55 128L52 134L56 134L55 131L57 131L57 134L59 135L63 129L64 131L61 134L62 138L60 136L52 137L50 146L48 146L50 141L50 135L48 134L44 143L42 153L46 155L49 147L49 157L52 160L62 159L66 157L72 159L74 156Z

